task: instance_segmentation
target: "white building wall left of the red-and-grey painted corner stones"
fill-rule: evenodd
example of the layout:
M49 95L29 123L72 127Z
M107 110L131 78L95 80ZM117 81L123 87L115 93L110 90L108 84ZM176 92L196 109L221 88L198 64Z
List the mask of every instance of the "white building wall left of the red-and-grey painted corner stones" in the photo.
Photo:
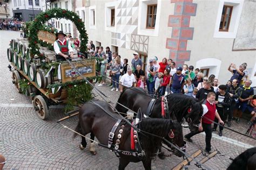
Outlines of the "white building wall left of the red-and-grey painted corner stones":
M158 4L154 30L146 29L145 19L141 20L141 18L146 18L147 8L145 6L147 4ZM110 26L111 8L115 8L115 26ZM129 59L129 63L131 63L134 51L148 55L148 59L153 56L158 56L160 59L168 58L169 49L166 49L165 45L166 38L171 37L171 27L167 27L167 22L172 9L173 5L170 1L160 0L90 1L90 7L85 8L85 27L89 40L93 40L96 46L98 45L96 41L101 42L104 48L109 46L112 51L114 51L113 46L118 46L119 55L122 56L122 59ZM84 8L76 9L79 13L82 10ZM93 10L95 10L95 25L92 24ZM121 16L118 15L119 12ZM148 38L148 41L144 39L144 47L140 45L139 49L132 48L132 34L136 36L137 41L139 41L139 36Z

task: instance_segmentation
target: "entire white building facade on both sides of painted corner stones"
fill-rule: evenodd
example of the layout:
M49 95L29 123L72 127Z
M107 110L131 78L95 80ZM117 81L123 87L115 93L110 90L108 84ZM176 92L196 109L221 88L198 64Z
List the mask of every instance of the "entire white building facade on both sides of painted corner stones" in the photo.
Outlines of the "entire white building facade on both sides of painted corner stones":
M130 3L132 3L132 6L129 5ZM156 3L158 4L157 16L159 17L157 17L155 30L145 29L145 6L146 4ZM242 62L247 62L250 79L253 80L252 86L256 86L254 76L256 70L256 52L252 50L232 51L235 41L234 38L237 38L237 32L246 26L240 24L240 18L244 15L243 12L248 11L248 6L251 7L250 10L253 11L254 9L256 11L255 6L250 4L253 2L248 0L194 0L193 3L197 3L197 12L196 16L190 19L190 27L194 27L194 33L193 39L187 41L187 50L191 50L191 56L190 61L186 61L185 63L193 65L194 68L210 68L209 75L216 75L220 83L225 84L231 77L231 73L227 70L230 63L232 62L239 66ZM135 5L133 6L133 4ZM232 13L233 20L231 20L230 32L219 33L219 15L224 4L234 5L234 11ZM134 51L148 55L148 60L152 56L158 56L158 61L161 61L164 57L169 57L170 50L165 47L166 38L172 37L172 27L167 26L169 16L173 15L174 11L174 4L170 3L170 1L104 0L90 1L90 6L87 8L82 8L78 5L77 7L76 11L79 11L80 16L82 10L85 10L85 27L89 40L93 40L96 46L99 45L97 42L101 42L104 48L109 46L112 51L114 51L112 47L118 46L118 52L122 56L122 59L129 59L129 64L133 58L132 53ZM111 8L116 9L116 23L114 27L111 27L109 24ZM95 25L92 24L93 10L95 11ZM127 15L129 12L125 14L125 11L130 10L132 11L132 17ZM118 15L119 12L121 15ZM251 14L251 19L248 20L255 23L255 12L251 12ZM256 24L250 25L255 26ZM142 45L138 47L139 49L135 48L134 50L132 47L132 35L135 39L139 39L140 37L148 38L148 45L144 46L147 50Z

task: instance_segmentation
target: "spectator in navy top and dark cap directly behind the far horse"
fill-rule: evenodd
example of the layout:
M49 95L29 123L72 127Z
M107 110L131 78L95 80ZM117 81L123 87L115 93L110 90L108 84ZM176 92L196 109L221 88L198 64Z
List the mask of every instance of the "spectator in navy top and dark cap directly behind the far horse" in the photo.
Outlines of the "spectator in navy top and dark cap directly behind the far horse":
M181 90L183 89L185 79L184 75L181 74L182 68L178 67L176 73L172 76L172 82L171 82L171 91L172 93L181 93Z

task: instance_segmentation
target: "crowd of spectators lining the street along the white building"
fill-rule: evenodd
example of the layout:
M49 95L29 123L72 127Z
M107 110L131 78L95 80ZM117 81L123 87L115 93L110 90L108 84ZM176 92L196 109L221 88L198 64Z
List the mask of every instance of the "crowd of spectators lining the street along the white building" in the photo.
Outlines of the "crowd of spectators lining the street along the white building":
M100 74L103 79L98 86L106 84L107 69L110 69L111 91L123 91L123 87L139 87L154 96L162 96L167 93L183 93L196 98L198 101L206 100L208 93L215 94L215 104L220 118L231 126L231 121L239 123L242 113L251 112L251 123L255 120L256 101L252 81L248 80L247 64L239 67L234 63L228 67L230 80L220 83L215 75L204 75L199 68L183 65L176 67L172 59L163 58L158 62L157 56L149 59L149 63L143 70L143 62L137 52L133 53L133 59L129 63L127 59L121 59L116 52L112 53L109 47L95 47L90 41L88 53L91 56L102 58L100 61ZM121 77L121 78L120 78ZM120 83L120 86L119 86ZM218 122L218 120L215 120ZM217 130L214 125L212 131ZM223 134L223 128L219 128L219 136Z

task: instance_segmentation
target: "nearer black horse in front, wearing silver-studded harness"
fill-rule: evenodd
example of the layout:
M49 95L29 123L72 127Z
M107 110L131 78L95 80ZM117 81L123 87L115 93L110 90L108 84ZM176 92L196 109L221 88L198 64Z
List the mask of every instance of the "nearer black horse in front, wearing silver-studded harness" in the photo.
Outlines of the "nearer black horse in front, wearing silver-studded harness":
M111 132L113 125L116 124L117 119L121 119L121 117L110 108L108 103L103 101L87 102L79 111L79 122L76 131L84 136L91 133L92 140L94 140L96 136L100 144L107 145L109 142L109 132ZM129 162L139 161L143 162L145 169L151 169L152 157L156 156L163 137L178 146L184 145L182 128L177 121L159 118L143 118L142 121L138 123L138 126L140 130L142 130L142 132L138 131L138 137L145 154L141 158L134 157L133 155L120 154L119 169L124 169ZM119 139L117 134L120 132L120 129L123 129L123 131L118 149L131 152L131 126L125 121L122 121L118 125L114 133L113 141ZM161 138L151 136L143 131L155 134ZM174 136L170 136L171 132L174 132ZM74 137L76 136L77 133L74 134ZM82 137L80 148L83 149L86 145L86 140ZM90 149L90 151L92 150ZM183 155L180 152L176 152L175 154L179 157Z

